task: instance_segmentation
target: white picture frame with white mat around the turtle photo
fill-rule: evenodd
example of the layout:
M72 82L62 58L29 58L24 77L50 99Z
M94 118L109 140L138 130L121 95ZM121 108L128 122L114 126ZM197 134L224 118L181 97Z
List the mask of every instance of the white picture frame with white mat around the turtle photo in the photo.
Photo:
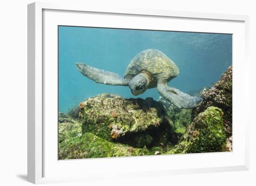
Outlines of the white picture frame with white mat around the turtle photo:
M55 12L54 12L55 11ZM64 12L62 12L64 11ZM65 13L69 13L65 17ZM45 128L44 124L46 121L53 120L52 122L57 124L55 118L44 117L44 109L49 107L47 103L47 92L45 88L48 85L45 85L47 78L52 79L56 76L53 74L56 71L55 68L51 68L50 65L44 66L43 60L47 59L48 55L44 45L47 45L43 40L44 32L48 33L51 29L56 29L56 24L60 25L63 23L58 17L65 17L65 21L68 25L77 25L80 24L79 20L74 21L75 17L83 16L86 13L99 14L101 18L104 16L122 16L123 19L132 19L130 17L138 17L141 19L154 19L157 17L159 19L179 19L179 21L198 21L199 27L200 24L209 24L205 28L200 28L200 32L224 32L225 25L230 23L229 28L225 30L225 33L232 33L237 35L235 40L233 40L233 45L241 44L239 48L234 47L233 53L237 54L234 57L235 62L233 61L233 102L236 107L233 109L233 120L236 122L242 122L241 128L236 130L234 128L234 151L230 153L212 153L212 154L193 154L193 160L206 160L206 158L212 158L213 161L204 163L205 165L200 165L198 167L191 164L189 166L175 166L175 164L168 165L168 163L163 163L160 166L159 162L172 162L186 160L189 162L191 159L190 154L179 154L179 155L170 155L170 156L145 156L145 157L131 157L131 158L108 158L108 159L93 159L93 160L68 160L68 161L58 161L57 158L50 157L51 154L56 152L53 148L48 147L48 142L44 138L47 133L47 139L54 139L55 130L49 132L49 128ZM59 14L59 15L58 15ZM61 16L60 16L61 15ZM45 17L44 17L45 16ZM52 16L52 17L51 17ZM73 17L74 16L74 17ZM103 16L103 17L102 17ZM114 17L114 16L113 16ZM49 19L50 18L50 19ZM57 18L57 19L56 19ZM107 18L107 17L106 17ZM95 18L96 20L96 18ZM138 19L139 20L139 19ZM200 22L201 21L201 22ZM104 24L109 25L109 19L104 19ZM131 21L134 22L134 21ZM137 21L139 23L139 21ZM209 22L209 23L208 23ZM47 25L49 23L49 25ZM129 21L127 21L127 24ZM136 21L135 21L136 23ZM115 23L114 23L115 24ZM133 23L134 24L134 23ZM161 24L161 23L159 23ZM220 28L216 30L211 30L210 25L220 24ZM128 27L134 28L132 25ZM154 26L157 26L155 24ZM180 25L181 26L181 25ZM189 24L187 25L189 26ZM223 26L223 27L222 27ZM233 27L234 26L234 27ZM109 27L109 26L108 26ZM113 25L115 27L115 25ZM218 26L217 26L218 27ZM222 27L222 28L221 28ZM168 29L168 28L167 28ZM196 29L196 28L193 28ZM177 28L179 31L192 31L188 28L180 27ZM195 30L193 30L195 31ZM48 37L48 36L47 36ZM54 36L53 36L54 37ZM119 178L130 178L137 176L157 176L157 175L174 175L174 174L187 174L187 173L211 173L211 172L223 172L223 171L238 171L238 170L249 170L249 121L246 119L241 120L241 118L246 117L247 113L245 111L239 110L239 106L242 108L249 107L249 95L245 92L244 88L239 89L241 85L243 87L249 88L249 61L248 61L248 47L249 47L249 16L244 15L225 15L225 14L214 14L214 13L193 13L193 12L175 12L169 10L148 10L148 9L136 9L136 8L99 8L99 7L87 7L86 5L75 5L75 4L52 4L52 3L43 3L36 2L28 5L28 168L27 168L27 178L29 182L38 184L38 183L51 183L51 182L65 182L65 181L80 181L80 180L102 180L102 179L111 179L110 174L115 173ZM53 39L53 42L56 42ZM56 46L57 43L53 45ZM48 49L53 52L55 49ZM53 54L55 55L55 54ZM240 61L240 63L239 63ZM241 63L243 61L243 63ZM54 65L53 60L53 65ZM57 73L57 72L56 72ZM239 77L238 77L239 73ZM241 76L242 75L242 76ZM54 83L50 87L54 87ZM47 90L49 90L47 88ZM55 91L55 90L54 90ZM45 95L46 94L46 95ZM236 99L240 97L240 99ZM53 98L54 100L54 98ZM51 101L53 101L51 100ZM50 101L50 100L48 100ZM54 103L54 102L51 102ZM56 102L57 104L57 102ZM50 109L50 108L49 108ZM239 112L241 111L241 112ZM238 113L239 112L239 116ZM56 112L57 113L57 112ZM234 115L236 114L236 115ZM243 117L244 116L244 117ZM236 127L237 125L235 125ZM240 134L240 135L238 135ZM45 141L46 140L46 141ZM237 144L237 146L236 146ZM56 149L57 151L57 149ZM50 154L50 155L49 155ZM234 155L235 154L235 155ZM224 157L225 156L225 157ZM56 161L55 164L51 161ZM227 163L218 162L216 159L229 159ZM151 163L151 167L148 166L148 161ZM126 170L120 168L118 171L105 170L104 167L112 165L117 162L117 164L123 164L127 166ZM134 164L135 168L129 167L130 164ZM51 164L51 165L50 165ZM67 175L55 174L58 170L74 170L74 167L77 170L80 170L82 165L87 165L91 170L85 170L81 174L72 174ZM164 165L165 164L165 165ZM96 166L93 168L92 165ZM136 165L143 165L144 168L136 167ZM216 166L215 166L216 165ZM51 167L52 166L52 167ZM162 166L162 167L161 167ZM46 168L47 167L47 168ZM56 169L55 169L56 168ZM94 170L95 169L95 170ZM99 171L99 169L101 171ZM52 170L52 171L50 171ZM67 171L68 172L68 171ZM114 177L113 177L114 179Z

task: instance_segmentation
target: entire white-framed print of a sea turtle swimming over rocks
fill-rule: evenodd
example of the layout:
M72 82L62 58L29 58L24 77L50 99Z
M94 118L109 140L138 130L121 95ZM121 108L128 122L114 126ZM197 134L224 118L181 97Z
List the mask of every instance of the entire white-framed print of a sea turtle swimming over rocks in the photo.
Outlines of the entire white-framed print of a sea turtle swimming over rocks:
M248 21L28 5L28 181L248 170Z

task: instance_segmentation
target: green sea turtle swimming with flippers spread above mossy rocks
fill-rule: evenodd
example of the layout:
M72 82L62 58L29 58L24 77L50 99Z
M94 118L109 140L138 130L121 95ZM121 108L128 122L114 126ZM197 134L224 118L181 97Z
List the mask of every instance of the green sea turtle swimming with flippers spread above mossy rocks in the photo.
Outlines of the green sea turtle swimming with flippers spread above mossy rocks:
M167 83L178 76L179 69L159 50L148 49L137 54L128 65L124 77L84 63L77 63L76 66L78 71L96 83L128 86L135 96L156 87L165 99L181 109L192 109L202 102L201 97L192 97L180 90L168 87Z

